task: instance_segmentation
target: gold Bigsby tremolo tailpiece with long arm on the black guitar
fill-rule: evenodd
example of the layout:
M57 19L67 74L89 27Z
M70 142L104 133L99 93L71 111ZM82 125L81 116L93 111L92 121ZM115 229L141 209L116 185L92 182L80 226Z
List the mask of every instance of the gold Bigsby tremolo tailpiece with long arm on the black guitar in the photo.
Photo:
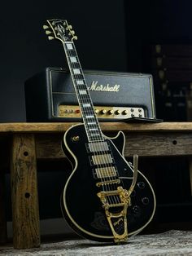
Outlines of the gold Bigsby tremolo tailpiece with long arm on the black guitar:
M103 208L107 216L107 221L111 227L111 232L114 236L114 241L116 243L126 241L128 238L128 220L127 211L129 205L131 205L130 195L133 192L133 188L137 181L137 155L133 156L133 181L129 188L126 190L121 186L117 187L113 191L102 191L98 192L98 197L103 203ZM107 197L118 196L120 200L116 203L108 203Z

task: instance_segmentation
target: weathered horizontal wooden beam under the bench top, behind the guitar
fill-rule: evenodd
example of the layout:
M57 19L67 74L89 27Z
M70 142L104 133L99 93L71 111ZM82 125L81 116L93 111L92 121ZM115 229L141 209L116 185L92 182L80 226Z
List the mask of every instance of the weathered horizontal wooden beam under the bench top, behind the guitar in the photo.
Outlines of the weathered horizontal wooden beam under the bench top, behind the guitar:
M105 133L111 136L111 133ZM63 135L36 135L38 159L61 159ZM192 136L189 132L126 133L125 157L189 156L192 155Z

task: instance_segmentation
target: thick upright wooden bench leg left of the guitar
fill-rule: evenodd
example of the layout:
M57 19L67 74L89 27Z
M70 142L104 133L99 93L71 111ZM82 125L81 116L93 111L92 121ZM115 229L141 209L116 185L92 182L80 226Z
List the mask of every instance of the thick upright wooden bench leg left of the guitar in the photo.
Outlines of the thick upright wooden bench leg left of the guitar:
M33 135L13 135L11 152L13 244L17 249L40 245L37 165Z

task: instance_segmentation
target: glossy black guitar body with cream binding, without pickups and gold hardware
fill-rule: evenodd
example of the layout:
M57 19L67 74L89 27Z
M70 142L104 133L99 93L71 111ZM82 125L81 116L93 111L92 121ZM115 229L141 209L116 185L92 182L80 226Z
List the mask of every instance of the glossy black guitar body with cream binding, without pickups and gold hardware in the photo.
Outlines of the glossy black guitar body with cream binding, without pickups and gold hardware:
M104 136L104 135L103 135ZM119 172L120 182L129 190L133 177L133 167L123 157L124 134L111 139L105 137L110 145L113 161ZM61 205L68 224L81 236L94 241L114 241L107 216L98 193L102 186L97 186L93 163L87 150L87 135L84 125L72 126L64 135L63 151L72 163L72 173L63 188ZM131 204L127 209L128 236L142 231L155 213L155 194L151 184L138 171L137 183L130 196ZM121 219L114 224L119 232L123 226Z

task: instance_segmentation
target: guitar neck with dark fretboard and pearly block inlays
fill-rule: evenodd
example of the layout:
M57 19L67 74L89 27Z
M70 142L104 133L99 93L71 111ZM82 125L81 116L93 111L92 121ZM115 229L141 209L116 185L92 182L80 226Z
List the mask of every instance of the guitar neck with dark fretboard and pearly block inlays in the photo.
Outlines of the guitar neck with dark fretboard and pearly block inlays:
M68 67L72 76L73 86L76 90L76 97L81 108L81 116L84 121L89 142L103 141L103 134L98 123L98 118L94 112L94 104L89 95L85 76L76 53L75 44L73 42L63 42L63 47L68 60Z

